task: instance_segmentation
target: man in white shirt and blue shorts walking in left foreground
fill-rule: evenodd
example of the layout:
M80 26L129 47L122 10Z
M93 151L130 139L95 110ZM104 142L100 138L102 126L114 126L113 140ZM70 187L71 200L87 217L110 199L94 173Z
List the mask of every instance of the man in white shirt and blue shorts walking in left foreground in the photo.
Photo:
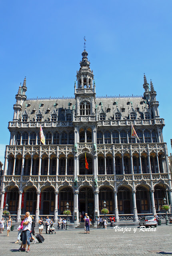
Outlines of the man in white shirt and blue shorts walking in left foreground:
M23 248L22 248L22 252L30 252L30 231L32 228L32 218L30 217L30 212L26 212L26 218L24 219L23 222ZM28 244L28 250L26 251L26 240L27 240L27 244Z

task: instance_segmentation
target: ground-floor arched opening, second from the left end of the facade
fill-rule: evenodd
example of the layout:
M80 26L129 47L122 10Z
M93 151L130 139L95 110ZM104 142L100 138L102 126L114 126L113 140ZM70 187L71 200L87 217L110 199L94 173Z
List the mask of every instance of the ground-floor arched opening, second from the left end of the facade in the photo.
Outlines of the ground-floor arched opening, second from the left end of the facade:
M35 214L36 212L36 189L30 188L29 190L24 192L26 198L26 212L30 212L30 214Z

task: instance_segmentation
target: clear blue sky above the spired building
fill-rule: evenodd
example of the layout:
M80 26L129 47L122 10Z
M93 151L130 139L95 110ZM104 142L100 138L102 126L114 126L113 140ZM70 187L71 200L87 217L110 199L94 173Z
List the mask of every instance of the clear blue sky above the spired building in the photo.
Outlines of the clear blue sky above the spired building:
M2 163L20 82L28 98L74 96L84 36L97 96L143 95L152 79L172 152L171 0L1 1L0 24Z

